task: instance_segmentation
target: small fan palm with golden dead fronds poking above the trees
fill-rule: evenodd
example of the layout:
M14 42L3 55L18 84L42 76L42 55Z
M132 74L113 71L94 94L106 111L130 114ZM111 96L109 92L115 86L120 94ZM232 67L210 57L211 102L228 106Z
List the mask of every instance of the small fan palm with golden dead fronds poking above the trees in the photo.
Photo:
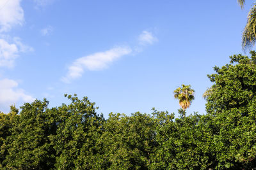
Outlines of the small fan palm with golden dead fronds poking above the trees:
M180 107L185 111L191 105L194 97L195 90L191 89L191 85L181 85L174 90L174 98L179 99Z

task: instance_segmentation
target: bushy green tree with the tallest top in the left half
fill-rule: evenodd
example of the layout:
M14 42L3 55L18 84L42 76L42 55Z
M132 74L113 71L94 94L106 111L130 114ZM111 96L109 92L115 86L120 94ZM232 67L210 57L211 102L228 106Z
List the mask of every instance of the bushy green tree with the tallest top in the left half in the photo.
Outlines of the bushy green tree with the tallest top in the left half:
M67 96L67 95L65 95ZM56 151L56 169L91 169L101 152L97 139L102 133L104 119L95 112L95 103L87 97L79 100L67 96L71 104L52 111L56 134L49 136Z

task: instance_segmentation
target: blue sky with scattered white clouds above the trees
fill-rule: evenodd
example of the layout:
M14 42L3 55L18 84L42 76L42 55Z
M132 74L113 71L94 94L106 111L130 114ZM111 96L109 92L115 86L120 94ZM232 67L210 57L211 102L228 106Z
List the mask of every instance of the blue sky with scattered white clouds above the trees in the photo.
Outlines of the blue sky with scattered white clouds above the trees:
M178 116L173 90L185 84L195 90L187 114L205 114L212 67L249 55L241 34L253 3L0 0L0 111L77 94L106 118L153 107Z

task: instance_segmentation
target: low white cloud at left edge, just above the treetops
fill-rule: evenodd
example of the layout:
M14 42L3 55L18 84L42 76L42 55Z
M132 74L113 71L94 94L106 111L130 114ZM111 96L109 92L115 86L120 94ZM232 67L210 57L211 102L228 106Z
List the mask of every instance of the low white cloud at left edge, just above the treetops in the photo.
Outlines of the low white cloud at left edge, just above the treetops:
M10 106L19 101L22 102L32 102L35 99L28 94L23 89L19 89L17 81L4 78L0 80L0 105Z

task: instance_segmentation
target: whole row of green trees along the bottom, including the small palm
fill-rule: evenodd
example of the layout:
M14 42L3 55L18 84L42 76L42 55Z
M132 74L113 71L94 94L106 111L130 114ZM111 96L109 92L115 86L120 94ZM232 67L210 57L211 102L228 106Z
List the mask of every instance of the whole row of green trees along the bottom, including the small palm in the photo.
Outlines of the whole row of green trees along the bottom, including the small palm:
M65 95L70 104L54 108L46 99L20 110L11 106L10 113L0 113L0 168L252 169L256 52L233 55L214 71L205 115L186 115L191 103L185 102L179 117L153 108L150 114L110 113L105 119L95 103L76 95ZM182 99L182 92L194 91L184 85L175 97Z

